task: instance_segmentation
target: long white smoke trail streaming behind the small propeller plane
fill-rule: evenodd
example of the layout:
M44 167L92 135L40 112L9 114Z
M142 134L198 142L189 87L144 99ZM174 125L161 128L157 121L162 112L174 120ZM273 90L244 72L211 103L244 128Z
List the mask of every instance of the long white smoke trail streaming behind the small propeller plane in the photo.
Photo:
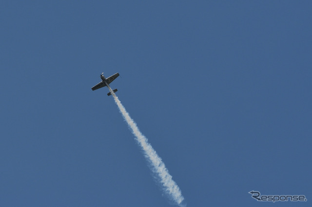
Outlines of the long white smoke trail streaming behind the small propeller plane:
M132 129L132 133L136 136L137 142L142 147L145 157L152 165L152 170L159 176L160 182L165 190L165 192L172 198L179 206L184 206L182 201L184 200L179 187L176 185L176 182L173 181L172 176L169 174L165 164L162 162L161 158L157 155L156 151L153 149L152 145L148 143L147 138L142 135L140 130L137 127L137 124L126 111L125 107L121 104L116 94L113 92L112 88L108 86L111 91L115 102L120 110L125 121Z

